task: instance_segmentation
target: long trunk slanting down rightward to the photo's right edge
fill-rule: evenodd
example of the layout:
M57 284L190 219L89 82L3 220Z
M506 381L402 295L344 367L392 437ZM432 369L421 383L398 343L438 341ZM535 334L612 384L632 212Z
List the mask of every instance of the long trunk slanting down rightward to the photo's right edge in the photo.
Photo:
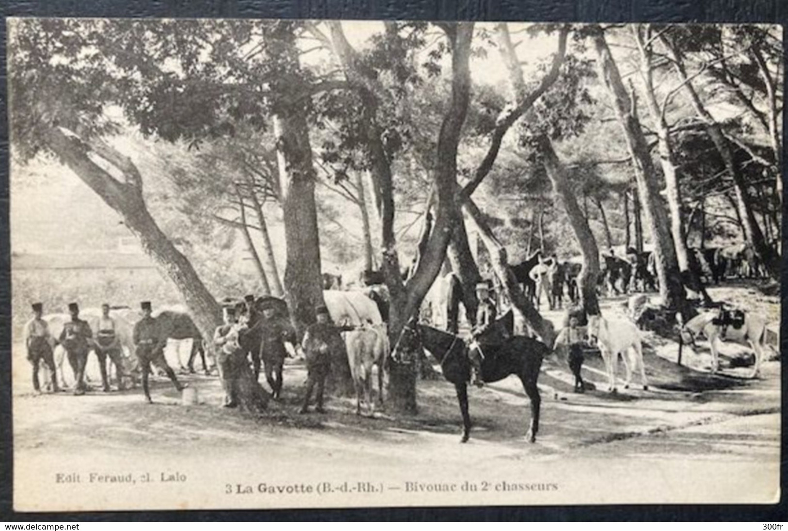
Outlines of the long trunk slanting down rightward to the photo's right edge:
M774 280L779 280L781 265L779 254L775 253L764 240L764 234L760 231L760 226L756 221L753 209L749 205L745 178L742 176L739 165L734 161L733 151L730 149L730 144L723 135L719 123L714 120L714 117L712 117L711 113L708 112L703 102L701 102L701 98L697 94L697 91L695 91L692 80L689 78L689 76L687 76L684 62L678 50L664 37L662 42L665 44L668 52L671 54L676 71L678 72L678 75L682 80L682 84L689 95L689 99L693 104L695 112L697 113L698 117L700 117L701 120L703 120L706 124L706 132L708 132L708 136L712 139L712 142L714 143L716 150L719 152L719 155L723 158L723 163L725 164L727 173L729 173L733 178L734 193L736 195L735 210L737 217L742 224L745 241L753 247L753 251L755 251L757 254L760 262L765 265L769 276ZM777 150L778 157L779 153L780 149ZM781 183L782 179L780 175L778 176L777 180L778 183Z

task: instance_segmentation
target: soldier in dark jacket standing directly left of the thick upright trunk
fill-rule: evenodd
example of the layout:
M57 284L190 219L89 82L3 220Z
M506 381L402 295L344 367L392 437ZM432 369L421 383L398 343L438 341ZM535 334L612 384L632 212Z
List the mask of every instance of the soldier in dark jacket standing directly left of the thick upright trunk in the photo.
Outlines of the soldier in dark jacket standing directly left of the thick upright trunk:
M277 316L275 302L271 299L262 305L262 319L258 322L260 330L260 355L266 364L266 381L273 394L278 398L282 388L282 369L284 358L295 356L296 330L284 318ZM258 374L255 367L255 375ZM276 378L274 378L276 376Z

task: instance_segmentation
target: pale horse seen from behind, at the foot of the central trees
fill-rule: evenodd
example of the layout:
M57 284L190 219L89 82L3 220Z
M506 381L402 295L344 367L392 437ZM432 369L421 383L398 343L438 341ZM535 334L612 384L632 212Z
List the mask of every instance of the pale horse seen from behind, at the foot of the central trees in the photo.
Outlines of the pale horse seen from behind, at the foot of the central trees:
M355 384L355 414L361 414L361 396L364 395L370 415L375 413L372 400L372 368L377 365L377 398L383 402L383 367L388 357L388 336L385 325L365 325L345 332L353 383Z

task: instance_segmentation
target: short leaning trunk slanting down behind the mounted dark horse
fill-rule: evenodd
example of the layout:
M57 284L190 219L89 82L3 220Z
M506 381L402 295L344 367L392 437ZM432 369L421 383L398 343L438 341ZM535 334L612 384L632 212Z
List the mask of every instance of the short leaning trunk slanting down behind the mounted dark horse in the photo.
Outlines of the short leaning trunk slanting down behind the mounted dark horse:
M466 199L463 202L463 210L468 214L470 221L476 225L477 232L481 240L484 241L485 247L487 247L492 270L495 271L496 276L499 278L504 293L530 328L541 337L542 342L548 347L552 347L552 343L556 339L552 323L542 318L530 300L528 300L526 294L523 293L520 284L515 278L515 274L511 272L509 267L506 247L492 233L484 216L472 199Z

